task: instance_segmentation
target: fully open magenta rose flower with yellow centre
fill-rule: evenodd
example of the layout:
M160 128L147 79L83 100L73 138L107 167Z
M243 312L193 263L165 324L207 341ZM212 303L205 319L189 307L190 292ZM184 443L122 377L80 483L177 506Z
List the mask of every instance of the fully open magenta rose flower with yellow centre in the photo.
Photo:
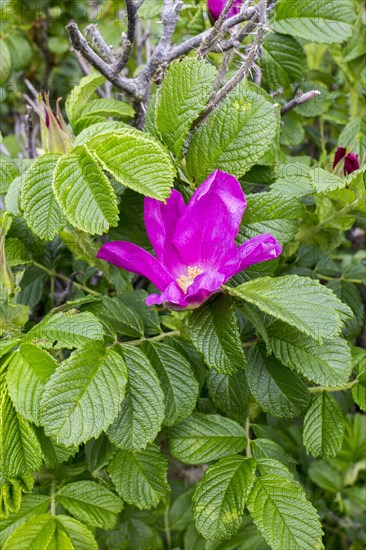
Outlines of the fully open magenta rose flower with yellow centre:
M150 279L161 294L148 296L147 305L198 307L233 275L282 251L267 234L237 246L245 206L238 180L216 170L187 205L176 190L166 204L145 198L146 230L156 257L133 243L114 241L101 247L98 258Z

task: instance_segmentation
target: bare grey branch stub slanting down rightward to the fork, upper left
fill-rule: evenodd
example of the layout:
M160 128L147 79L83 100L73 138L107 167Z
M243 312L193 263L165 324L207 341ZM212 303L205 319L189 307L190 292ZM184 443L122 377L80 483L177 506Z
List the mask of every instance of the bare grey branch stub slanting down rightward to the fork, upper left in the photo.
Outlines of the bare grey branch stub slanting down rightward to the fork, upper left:
M139 98L142 96L141 90L134 80L125 78L115 73L113 68L108 65L97 53L90 47L84 36L81 34L76 23L66 25L70 42L75 50L80 52L83 57L89 61L95 69L112 82L117 88L123 90L129 95Z

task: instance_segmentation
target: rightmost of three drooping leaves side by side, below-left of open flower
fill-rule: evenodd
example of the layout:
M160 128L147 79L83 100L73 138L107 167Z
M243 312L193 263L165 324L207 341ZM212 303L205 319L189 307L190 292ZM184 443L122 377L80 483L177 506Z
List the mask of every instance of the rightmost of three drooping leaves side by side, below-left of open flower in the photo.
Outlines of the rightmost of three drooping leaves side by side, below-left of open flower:
M173 426L194 410L198 382L188 361L171 346L149 342L142 349L159 377L165 395L164 424Z

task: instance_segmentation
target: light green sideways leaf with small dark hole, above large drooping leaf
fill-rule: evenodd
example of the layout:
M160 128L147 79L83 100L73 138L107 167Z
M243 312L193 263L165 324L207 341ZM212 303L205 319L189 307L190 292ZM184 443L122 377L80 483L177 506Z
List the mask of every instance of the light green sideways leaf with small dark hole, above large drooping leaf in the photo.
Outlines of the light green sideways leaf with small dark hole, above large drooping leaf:
M26 341L43 348L79 348L103 340L103 329L92 313L75 309L50 313L27 334Z

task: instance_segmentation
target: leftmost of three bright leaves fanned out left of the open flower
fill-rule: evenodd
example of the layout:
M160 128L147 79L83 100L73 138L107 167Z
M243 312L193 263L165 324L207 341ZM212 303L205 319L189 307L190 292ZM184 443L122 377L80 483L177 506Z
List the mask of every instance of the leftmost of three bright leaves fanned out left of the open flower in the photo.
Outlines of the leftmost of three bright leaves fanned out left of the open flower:
M41 239L52 241L65 226L65 218L52 190L52 177L60 155L47 153L26 171L21 189L21 207L28 226Z

